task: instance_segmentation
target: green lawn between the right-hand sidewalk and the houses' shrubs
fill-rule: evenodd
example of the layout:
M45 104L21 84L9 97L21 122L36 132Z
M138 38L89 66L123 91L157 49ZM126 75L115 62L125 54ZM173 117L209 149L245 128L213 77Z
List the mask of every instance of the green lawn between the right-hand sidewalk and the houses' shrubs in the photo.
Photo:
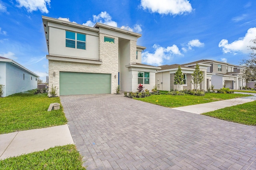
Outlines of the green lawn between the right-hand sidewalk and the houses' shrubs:
M173 95L151 95L146 98L133 98L143 102L157 104L164 107L182 107L195 104L203 104L209 102L216 102L220 100L228 100L233 98L241 98L251 96L248 94L221 94L221 93L206 93L205 96L194 96L185 94L184 96Z

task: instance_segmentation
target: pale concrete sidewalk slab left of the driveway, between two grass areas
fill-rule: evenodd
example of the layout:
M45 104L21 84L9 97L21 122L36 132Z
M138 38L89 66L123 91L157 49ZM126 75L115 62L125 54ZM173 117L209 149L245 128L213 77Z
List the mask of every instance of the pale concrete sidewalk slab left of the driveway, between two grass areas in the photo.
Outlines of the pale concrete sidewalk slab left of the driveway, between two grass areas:
M0 160L20 154L74 144L68 125L0 135Z

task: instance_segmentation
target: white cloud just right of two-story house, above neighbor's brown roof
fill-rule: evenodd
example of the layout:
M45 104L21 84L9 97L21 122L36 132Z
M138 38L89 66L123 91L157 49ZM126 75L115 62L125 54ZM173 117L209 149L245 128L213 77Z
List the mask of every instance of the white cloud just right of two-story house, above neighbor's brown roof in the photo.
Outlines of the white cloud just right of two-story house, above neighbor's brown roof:
M154 44L153 48L155 49L154 53L148 51L142 53L142 63L159 66L162 65L164 60L170 60L174 55L182 55L176 45L164 48Z

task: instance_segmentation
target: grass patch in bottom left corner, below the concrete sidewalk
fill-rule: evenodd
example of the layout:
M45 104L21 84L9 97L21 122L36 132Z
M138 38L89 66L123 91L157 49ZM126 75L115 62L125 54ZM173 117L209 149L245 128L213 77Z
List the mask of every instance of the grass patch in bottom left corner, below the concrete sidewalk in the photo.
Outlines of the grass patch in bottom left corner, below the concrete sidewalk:
M0 160L0 170L85 170L75 145Z

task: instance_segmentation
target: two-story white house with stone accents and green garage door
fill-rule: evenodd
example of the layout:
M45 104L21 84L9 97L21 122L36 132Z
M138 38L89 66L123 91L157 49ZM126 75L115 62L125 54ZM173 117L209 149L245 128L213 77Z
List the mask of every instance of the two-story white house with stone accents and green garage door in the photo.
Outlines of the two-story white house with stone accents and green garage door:
M49 89L57 96L152 89L159 67L141 64L141 34L102 23L88 27L42 16L49 55Z

